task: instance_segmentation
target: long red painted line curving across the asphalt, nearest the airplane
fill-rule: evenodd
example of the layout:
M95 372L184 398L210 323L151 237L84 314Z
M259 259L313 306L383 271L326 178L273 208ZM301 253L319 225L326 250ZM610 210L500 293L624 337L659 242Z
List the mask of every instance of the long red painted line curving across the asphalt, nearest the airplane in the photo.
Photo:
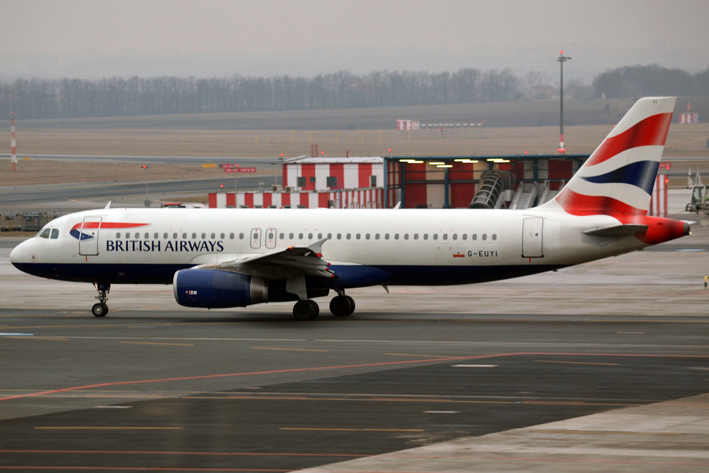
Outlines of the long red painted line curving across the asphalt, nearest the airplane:
M16 396L6 396L0 398L0 401L9 401L11 399L21 399L32 396L45 396L47 394L57 394L67 391L80 391L82 389L93 389L93 388L103 388L107 386L125 386L127 384L147 384L147 383L160 383L160 382L174 382L174 381L187 381L190 379L212 379L212 378L227 378L227 377L238 377L238 376L256 376L259 374L281 374L281 373L297 373L297 372L308 372L308 371L323 371L325 369L351 369L351 368L364 368L364 367L376 367L376 366L393 366L393 365L411 365L413 363L432 363L432 362L450 362L457 360L481 360L483 358L496 358L496 357L510 357L510 356L574 356L574 357L646 357L646 358L709 358L709 355L642 355L642 354L627 354L627 353L554 353L554 352L517 352L517 353L499 353L493 355L476 355L472 357L453 357L445 358L442 360L440 358L434 359L424 359L424 360L406 360L398 362L381 362L381 363L364 363L362 365L338 365L338 366L323 366L323 367L311 367L311 368L291 368L291 369L274 369L272 371L257 371L257 372L245 372L245 373L225 373L225 374L203 374L201 376L186 376L186 377L175 377L175 378L161 378L161 379L142 379L138 381L119 381L111 383L99 383L99 384L87 384L86 386L74 386L70 388L63 389L52 389L51 391L38 391L30 394L18 394Z

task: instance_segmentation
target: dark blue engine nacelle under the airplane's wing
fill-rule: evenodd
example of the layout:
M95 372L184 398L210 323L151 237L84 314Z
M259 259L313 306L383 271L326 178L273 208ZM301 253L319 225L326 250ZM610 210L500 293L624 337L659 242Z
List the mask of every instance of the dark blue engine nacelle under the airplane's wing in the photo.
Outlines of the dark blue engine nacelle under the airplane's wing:
M268 302L268 280L218 269L180 269L172 279L177 304L187 307L245 307Z

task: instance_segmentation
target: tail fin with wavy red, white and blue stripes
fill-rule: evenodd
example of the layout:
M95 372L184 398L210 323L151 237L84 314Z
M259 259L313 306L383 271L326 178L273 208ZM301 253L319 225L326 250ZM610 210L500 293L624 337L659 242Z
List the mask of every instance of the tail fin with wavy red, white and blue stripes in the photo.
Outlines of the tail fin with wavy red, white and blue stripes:
M646 215L675 101L635 102L547 206L574 215Z

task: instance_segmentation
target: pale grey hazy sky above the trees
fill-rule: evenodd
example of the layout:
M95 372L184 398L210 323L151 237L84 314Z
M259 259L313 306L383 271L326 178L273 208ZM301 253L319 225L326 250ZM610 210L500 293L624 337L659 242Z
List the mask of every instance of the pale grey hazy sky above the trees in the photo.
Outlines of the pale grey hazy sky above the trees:
M0 75L709 67L709 1L0 0Z

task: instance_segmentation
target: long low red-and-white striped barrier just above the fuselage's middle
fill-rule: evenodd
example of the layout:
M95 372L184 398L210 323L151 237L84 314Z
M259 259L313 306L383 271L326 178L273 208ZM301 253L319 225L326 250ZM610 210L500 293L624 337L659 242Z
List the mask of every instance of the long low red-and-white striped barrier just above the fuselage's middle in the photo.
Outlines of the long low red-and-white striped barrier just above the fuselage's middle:
M384 189L330 192L213 192L209 208L383 208Z

